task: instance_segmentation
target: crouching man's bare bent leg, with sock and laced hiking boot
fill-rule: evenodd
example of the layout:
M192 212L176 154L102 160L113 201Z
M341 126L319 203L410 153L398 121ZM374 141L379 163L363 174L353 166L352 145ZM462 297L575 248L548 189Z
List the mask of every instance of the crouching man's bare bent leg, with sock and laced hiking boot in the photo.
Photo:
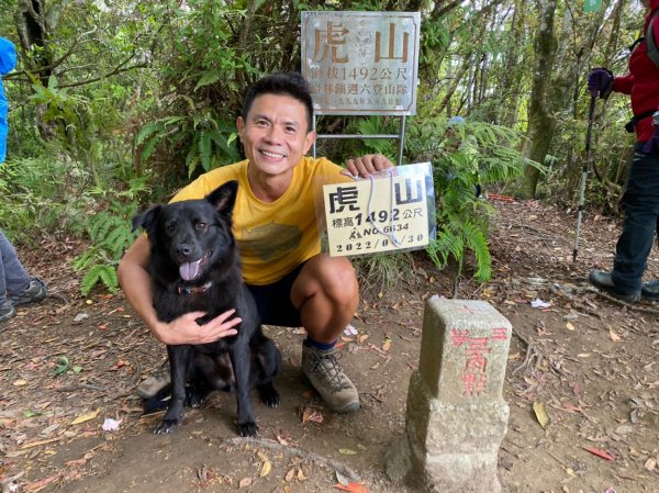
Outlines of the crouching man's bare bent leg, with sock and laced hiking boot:
M359 395L344 373L334 346L359 304L359 287L350 261L326 254L311 258L291 290L309 337L302 348L302 372L335 412L359 408Z

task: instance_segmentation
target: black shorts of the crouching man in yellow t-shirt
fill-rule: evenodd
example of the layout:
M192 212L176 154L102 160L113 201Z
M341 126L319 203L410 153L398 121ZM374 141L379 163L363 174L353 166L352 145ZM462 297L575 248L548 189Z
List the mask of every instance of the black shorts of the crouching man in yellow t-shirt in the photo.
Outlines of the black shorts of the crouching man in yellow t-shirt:
M279 281L266 285L247 284L252 292L261 324L301 327L300 311L291 301L291 288L304 264L300 264Z

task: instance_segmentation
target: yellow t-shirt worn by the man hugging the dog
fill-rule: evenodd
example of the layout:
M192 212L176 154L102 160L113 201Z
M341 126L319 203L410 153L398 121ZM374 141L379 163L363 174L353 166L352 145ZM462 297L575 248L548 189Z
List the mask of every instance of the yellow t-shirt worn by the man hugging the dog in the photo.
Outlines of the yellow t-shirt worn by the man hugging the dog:
M237 180L233 232L241 248L243 278L248 284L270 284L320 254L314 178L336 181L343 168L326 158L303 157L293 168L293 179L283 195L266 203L252 193L248 163L235 163L200 176L171 202L203 199L221 184Z

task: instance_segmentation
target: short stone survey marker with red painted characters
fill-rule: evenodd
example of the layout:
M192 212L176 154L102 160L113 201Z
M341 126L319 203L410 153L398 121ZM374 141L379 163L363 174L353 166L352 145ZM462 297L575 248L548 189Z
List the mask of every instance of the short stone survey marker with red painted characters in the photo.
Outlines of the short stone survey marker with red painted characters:
M427 492L501 492L511 334L510 322L484 301L428 300L405 434L386 457L391 479Z

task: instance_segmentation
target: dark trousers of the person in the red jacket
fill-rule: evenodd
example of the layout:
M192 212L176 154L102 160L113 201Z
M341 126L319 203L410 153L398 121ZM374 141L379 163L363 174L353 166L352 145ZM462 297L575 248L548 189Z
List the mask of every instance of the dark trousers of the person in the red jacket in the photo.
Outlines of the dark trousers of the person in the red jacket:
M625 220L611 279L619 292L638 293L659 219L659 152L634 154L623 194Z

